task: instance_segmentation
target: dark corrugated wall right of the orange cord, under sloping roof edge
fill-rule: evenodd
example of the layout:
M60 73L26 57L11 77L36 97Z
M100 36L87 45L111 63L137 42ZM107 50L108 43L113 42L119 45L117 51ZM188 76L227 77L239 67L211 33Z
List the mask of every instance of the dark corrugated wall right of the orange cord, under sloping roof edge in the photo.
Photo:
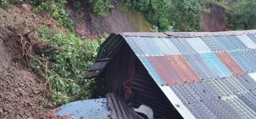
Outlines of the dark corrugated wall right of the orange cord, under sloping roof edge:
M131 88L136 94L136 107L139 107L141 104L151 107L155 118L181 118L180 114L171 106L171 102L150 77L139 59L136 60Z

